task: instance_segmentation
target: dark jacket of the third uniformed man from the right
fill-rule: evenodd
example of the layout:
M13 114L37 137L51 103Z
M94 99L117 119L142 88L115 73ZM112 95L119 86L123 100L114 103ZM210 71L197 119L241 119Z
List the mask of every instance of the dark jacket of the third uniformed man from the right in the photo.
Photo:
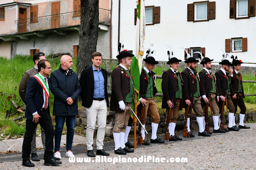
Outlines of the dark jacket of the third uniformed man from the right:
M214 79L214 85L215 85L215 89L216 89L216 98L217 98L217 96L219 96L219 92L218 92L218 88L217 88L217 85L215 84L215 82L216 82L216 78L215 78L215 76L212 74L212 72L211 72L211 74L212 74L212 77L210 76L210 74L209 73L207 73L207 71L206 70L202 70L202 71L200 71L199 73L199 77L200 77L200 81L201 81L201 96L203 96L203 95L206 95L206 97L207 97L207 95L208 95L208 87L209 87L209 90L212 90L213 89L213 83L212 83L212 77L213 77L213 79ZM203 101L203 102L202 102ZM217 101L217 100L216 100ZM201 104L202 105L205 105L205 102L204 102L204 100L201 100Z

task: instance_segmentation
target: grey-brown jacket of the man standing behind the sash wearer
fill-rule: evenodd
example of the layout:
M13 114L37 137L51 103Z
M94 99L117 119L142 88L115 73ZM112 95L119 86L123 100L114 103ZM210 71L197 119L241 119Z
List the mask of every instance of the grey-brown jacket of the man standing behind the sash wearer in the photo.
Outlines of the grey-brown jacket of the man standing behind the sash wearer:
M27 88L28 80L32 76L35 76L37 73L38 73L38 70L35 67L33 67L33 68L27 70L26 72L24 72L24 74L20 80L19 94L20 94L22 101L25 103L25 105L26 105L25 95L26 95L26 88Z

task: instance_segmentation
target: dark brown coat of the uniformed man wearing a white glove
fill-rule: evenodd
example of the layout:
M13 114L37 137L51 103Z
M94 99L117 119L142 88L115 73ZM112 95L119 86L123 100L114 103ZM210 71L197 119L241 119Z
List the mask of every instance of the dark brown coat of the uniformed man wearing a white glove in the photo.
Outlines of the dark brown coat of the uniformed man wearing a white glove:
M119 108L118 101L123 100L125 103L125 97L128 92L130 92L130 78L126 74L124 68L117 66L111 73L112 78L112 93L110 100L110 110L114 112L122 112L124 110Z

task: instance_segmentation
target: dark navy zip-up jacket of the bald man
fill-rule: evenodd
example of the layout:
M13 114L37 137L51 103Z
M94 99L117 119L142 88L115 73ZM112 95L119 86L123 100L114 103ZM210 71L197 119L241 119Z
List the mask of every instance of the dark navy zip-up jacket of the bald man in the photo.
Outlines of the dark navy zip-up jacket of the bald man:
M60 68L51 74L52 94L54 95L53 115L73 116L78 115L77 98L81 92L80 83L74 71ZM74 100L68 105L67 98Z

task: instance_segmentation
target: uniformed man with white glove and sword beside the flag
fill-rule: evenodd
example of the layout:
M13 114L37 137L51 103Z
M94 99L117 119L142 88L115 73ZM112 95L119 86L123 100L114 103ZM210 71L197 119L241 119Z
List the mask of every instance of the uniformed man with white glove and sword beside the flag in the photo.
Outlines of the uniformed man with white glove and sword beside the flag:
M115 153L126 155L134 152L124 144L125 128L128 124L132 103L134 103L134 83L133 78L128 70L132 64L132 54L128 51L122 51L116 58L119 65L112 71L112 93L110 100L110 110L115 113L115 125L113 136L115 141Z

